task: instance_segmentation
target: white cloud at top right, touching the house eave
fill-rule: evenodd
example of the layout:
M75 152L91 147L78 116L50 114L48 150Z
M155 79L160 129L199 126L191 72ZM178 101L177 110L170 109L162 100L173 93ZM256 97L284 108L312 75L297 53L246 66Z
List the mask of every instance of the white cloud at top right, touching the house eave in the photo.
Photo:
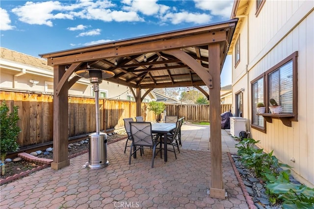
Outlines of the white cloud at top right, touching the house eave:
M230 18L234 0L194 0L195 7L209 10L211 15Z

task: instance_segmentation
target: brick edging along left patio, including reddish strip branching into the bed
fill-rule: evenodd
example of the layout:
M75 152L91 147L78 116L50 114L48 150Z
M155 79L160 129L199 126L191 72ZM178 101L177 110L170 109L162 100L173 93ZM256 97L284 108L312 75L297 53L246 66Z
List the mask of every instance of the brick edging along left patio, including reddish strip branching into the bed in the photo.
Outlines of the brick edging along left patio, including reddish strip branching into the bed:
M108 144L111 144L111 143L114 143L114 142L117 142L117 141L120 141L120 140L123 140L123 139L126 139L126 138L127 138L127 136L119 138L119 139L115 139L115 140L112 140L112 141L108 142ZM88 152L89 152L88 150L84 150L82 152L73 154L73 155L69 156L69 159L71 159L73 157L78 157L78 156L83 155L83 154L88 153ZM23 154L23 153L20 153L20 154ZM18 156L20 154L18 154ZM22 178L22 177L25 177L26 175L28 175L28 174L30 174L32 172L39 171L39 170L44 169L44 168L48 168L48 167L50 167L51 163L53 162L52 159L47 159L47 158L42 158L42 157L35 157L35 156L32 156L32 155L27 154L27 153L24 153L22 156L26 156L27 158L25 158L25 159L29 160L29 161L34 161L33 159L39 158L39 159L37 159L38 161L36 161L36 162L45 163L45 164L40 165L40 166L38 166L36 168L33 168L31 170L23 171L23 172L21 172L19 174L15 174L13 176L9 176L9 177L7 177L5 179L1 179L0 180L0 185L2 185L4 183L12 182L13 180L16 180L16 179L19 179L19 178ZM22 156L19 156L19 157L22 157ZM24 157L22 157L22 158L24 158Z

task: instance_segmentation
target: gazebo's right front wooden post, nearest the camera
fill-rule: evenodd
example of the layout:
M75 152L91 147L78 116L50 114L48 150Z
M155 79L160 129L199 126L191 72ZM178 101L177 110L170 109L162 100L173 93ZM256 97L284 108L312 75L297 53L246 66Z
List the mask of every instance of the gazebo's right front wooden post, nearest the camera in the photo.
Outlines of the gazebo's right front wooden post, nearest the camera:
M210 158L211 181L209 196L225 199L222 179L221 116L220 116L220 50L219 44L209 44L209 73L212 88L209 88Z

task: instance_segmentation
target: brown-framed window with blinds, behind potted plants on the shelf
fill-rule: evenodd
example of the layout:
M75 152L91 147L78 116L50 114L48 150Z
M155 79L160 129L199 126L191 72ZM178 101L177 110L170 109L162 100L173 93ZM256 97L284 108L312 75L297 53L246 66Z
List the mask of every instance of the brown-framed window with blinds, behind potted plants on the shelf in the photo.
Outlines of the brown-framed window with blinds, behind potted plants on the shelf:
M296 114L297 111L296 57L297 52L294 52L266 72L268 83L267 100L275 99L281 105L282 113Z

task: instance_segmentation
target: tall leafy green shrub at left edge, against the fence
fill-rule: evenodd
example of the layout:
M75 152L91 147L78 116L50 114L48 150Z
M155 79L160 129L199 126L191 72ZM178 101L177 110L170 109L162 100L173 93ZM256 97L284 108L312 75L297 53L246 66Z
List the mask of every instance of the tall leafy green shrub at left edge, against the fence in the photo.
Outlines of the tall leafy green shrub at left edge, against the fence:
M4 159L9 152L15 152L19 149L19 145L16 142L16 138L21 131L18 126L20 120L18 115L18 106L13 106L13 111L9 113L9 107L5 101L0 105L0 159L4 162ZM2 175L5 173L4 164L2 165Z

